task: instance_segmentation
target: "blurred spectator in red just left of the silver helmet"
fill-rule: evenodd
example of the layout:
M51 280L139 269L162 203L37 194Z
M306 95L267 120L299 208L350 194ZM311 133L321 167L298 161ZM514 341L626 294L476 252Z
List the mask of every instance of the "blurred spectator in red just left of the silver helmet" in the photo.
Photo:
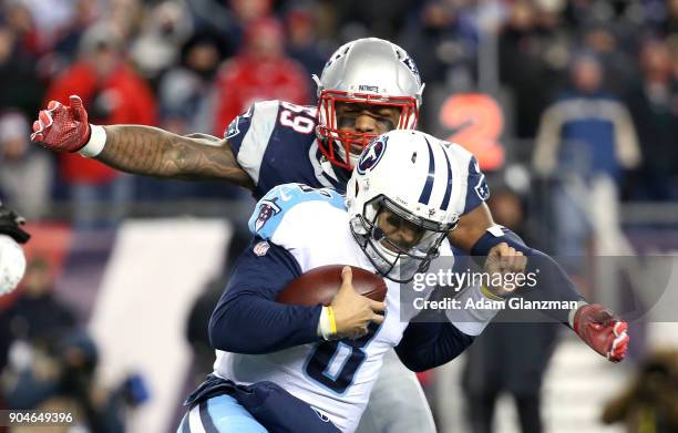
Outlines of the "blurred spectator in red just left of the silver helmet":
M304 69L284 50L285 33L278 21L265 18L249 24L243 51L219 72L215 135L223 136L230 121L254 102L309 103Z

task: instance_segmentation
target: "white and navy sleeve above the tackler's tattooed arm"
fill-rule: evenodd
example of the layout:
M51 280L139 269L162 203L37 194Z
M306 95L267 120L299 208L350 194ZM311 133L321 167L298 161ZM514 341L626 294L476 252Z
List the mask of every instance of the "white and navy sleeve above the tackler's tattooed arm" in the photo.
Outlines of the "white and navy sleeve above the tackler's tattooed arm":
M279 101L264 101L230 122L224 138L230 144L236 161L259 184L259 172L278 118Z

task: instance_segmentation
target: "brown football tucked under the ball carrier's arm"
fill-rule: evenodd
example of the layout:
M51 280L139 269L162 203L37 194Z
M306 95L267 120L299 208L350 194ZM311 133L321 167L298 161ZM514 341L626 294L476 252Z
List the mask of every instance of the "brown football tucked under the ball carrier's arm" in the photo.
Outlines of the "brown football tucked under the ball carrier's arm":
M276 300L290 306L329 306L341 286L343 266L321 266L305 272L287 285ZM381 277L355 266L351 270L356 292L380 302L386 299L387 286Z

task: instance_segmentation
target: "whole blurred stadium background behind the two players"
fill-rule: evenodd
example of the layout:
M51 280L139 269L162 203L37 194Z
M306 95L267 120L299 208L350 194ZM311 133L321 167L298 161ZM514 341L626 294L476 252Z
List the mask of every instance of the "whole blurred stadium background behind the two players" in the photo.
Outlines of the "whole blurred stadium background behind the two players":
M209 364L204 315L238 248L232 235L253 206L227 185L130 176L30 144L30 123L47 101L76 93L93 123L222 135L254 101L314 104L310 74L339 44L369 35L414 58L427 83L420 128L476 154L500 223L562 257L590 299L624 311L653 286L667 291L659 303L675 305L670 272L657 282L599 264L678 249L676 0L0 6L0 195L33 234L30 278L0 298L4 398L22 371L53 379L65 357L55 341L66 336L85 354L82 374L95 391L79 399L115 408L102 411L102 423L171 431ZM523 401L538 394L545 371L540 404L548 432L676 431L675 319L672 311L635 318L630 355L619 365L558 328L513 329L510 339L493 330L470 355L422 375L440 431L473 431L465 414L487 409L487 378L497 371ZM625 410L607 408L624 422L604 425L604 406L634 383ZM507 395L497 403L497 432L518 431Z

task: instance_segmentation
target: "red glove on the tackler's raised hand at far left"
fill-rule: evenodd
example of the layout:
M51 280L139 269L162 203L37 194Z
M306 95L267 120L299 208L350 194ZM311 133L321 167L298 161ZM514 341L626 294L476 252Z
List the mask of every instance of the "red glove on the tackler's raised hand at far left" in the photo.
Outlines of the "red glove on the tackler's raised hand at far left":
M50 101L33 122L31 141L54 152L78 152L90 141L88 112L80 96L69 97L71 105Z

